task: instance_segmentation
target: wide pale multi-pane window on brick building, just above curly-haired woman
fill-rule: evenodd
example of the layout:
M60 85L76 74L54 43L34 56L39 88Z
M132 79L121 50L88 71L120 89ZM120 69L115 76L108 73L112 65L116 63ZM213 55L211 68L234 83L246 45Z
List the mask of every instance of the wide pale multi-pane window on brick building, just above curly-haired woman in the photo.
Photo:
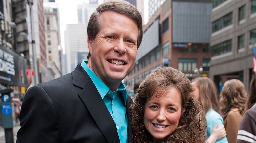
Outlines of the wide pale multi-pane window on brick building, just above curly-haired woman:
M197 67L197 59L179 59L178 70L193 72Z

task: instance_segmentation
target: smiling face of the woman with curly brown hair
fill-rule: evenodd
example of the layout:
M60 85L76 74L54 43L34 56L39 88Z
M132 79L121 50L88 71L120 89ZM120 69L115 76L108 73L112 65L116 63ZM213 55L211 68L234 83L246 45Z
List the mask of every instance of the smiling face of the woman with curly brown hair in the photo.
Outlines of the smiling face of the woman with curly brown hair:
M144 125L153 142L166 141L165 138L178 127L181 110L181 94L175 87L170 88L167 94L160 98L153 95L147 100Z

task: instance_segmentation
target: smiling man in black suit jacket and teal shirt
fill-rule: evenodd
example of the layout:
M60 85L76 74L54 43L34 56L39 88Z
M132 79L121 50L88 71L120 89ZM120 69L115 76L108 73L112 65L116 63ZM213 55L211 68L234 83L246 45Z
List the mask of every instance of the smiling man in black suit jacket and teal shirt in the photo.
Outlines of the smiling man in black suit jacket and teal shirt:
M132 101L121 81L135 64L141 15L123 0L103 3L87 31L88 62L27 91L17 143L132 142Z

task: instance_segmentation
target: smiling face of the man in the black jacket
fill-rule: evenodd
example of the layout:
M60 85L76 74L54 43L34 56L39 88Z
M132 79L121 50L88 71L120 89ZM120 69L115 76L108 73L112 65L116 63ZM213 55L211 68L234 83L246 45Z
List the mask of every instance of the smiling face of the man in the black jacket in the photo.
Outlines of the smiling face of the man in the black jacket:
M137 53L138 26L131 18L112 11L99 16L101 29L88 37L88 66L108 86L122 81L133 69Z

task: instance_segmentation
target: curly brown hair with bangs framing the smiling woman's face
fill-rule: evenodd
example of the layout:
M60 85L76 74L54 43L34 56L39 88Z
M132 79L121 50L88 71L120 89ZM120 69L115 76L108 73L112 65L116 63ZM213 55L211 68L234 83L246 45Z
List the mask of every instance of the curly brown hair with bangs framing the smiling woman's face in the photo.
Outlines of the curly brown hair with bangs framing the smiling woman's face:
M201 116L200 103L192 96L193 88L189 79L181 71L171 67L163 67L152 71L140 84L134 103L130 107L135 143L148 143L151 140L151 135L143 123L144 106L147 99L153 95L161 98L172 87L177 88L181 93L182 114L178 127L166 137L166 142L205 142L206 124Z

